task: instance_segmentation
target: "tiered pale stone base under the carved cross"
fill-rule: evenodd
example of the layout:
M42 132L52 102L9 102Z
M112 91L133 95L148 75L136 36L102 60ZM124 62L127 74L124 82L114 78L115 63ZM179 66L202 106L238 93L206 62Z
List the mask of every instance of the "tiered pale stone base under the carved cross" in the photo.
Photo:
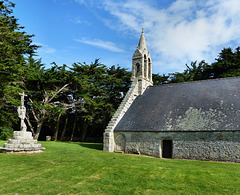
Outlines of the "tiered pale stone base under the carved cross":
M29 131L14 131L13 139L9 139L3 147L0 147L0 152L11 154L32 154L44 152L45 148L33 139L32 133Z

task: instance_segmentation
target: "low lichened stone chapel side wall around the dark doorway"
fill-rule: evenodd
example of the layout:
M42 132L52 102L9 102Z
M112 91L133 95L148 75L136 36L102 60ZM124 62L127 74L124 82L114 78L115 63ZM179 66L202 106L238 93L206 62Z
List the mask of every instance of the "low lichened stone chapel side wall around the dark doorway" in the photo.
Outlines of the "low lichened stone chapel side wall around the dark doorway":
M172 140L172 158L240 162L240 131L114 132L115 152L162 157Z

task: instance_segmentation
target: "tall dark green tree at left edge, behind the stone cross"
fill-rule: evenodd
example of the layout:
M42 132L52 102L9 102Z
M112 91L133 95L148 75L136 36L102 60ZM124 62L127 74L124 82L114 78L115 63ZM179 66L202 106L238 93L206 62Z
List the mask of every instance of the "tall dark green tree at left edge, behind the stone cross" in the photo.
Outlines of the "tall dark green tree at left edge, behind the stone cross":
M25 57L37 49L32 36L27 35L12 15L15 4L0 1L0 124L13 127L18 120L16 106L20 105Z

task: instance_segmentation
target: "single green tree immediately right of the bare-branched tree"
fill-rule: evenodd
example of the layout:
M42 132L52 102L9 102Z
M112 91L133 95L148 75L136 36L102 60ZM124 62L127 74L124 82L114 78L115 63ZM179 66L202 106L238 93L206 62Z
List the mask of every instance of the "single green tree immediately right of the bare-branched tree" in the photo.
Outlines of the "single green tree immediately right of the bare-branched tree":
M71 70L74 73L74 95L76 102L81 102L79 112L82 121L81 141L84 141L87 128L97 116L97 113L104 110L109 104L104 104L106 97L106 66L98 60L87 65L86 63L74 63Z

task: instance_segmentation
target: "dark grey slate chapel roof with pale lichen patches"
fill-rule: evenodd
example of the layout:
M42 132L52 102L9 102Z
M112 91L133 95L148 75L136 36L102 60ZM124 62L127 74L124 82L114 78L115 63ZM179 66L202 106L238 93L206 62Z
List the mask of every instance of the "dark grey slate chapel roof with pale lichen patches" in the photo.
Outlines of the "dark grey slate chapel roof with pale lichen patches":
M240 77L153 86L115 131L240 130Z

